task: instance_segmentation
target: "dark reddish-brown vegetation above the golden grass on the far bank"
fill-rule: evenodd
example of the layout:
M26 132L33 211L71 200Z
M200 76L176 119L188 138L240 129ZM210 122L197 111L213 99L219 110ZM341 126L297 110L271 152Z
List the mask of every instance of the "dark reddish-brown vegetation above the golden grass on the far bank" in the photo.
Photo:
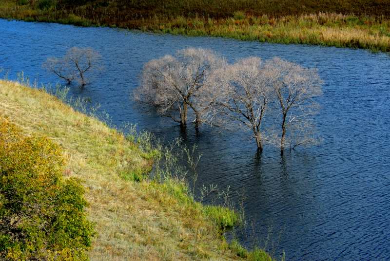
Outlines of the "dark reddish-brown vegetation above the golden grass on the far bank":
M390 0L19 0L22 4L56 5L96 19L115 14L118 20L170 16L226 18L237 11L282 17L323 13L390 17Z

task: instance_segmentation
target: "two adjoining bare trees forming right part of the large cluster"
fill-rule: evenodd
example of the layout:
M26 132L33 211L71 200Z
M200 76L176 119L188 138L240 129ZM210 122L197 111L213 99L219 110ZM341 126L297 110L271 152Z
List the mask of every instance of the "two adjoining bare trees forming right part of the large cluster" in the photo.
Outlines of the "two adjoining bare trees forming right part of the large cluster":
M319 106L313 98L322 93L316 70L280 58L249 57L215 70L210 84L219 89L206 113L210 124L253 132L260 151L263 143L281 151L316 143L312 117ZM262 130L264 120L267 130ZM279 122L281 128L275 126Z

